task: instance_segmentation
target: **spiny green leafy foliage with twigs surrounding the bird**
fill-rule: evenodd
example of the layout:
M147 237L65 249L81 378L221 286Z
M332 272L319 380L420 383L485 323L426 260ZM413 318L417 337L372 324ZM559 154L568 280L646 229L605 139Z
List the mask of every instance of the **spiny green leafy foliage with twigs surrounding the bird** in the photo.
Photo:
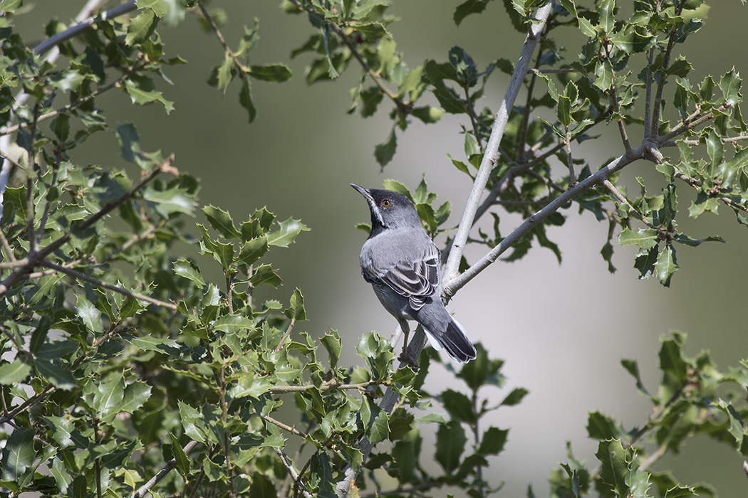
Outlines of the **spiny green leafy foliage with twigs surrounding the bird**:
M159 90L168 82L163 69L185 60L166 54L159 25L195 15L224 49L208 83L225 94L238 80L239 104L254 121L251 82L283 82L291 72L284 63L249 63L257 20L233 49L221 34L218 3L208 9L200 0L129 1L83 33L52 20L46 34L54 43L36 49L14 24L25 13L22 0L0 3L0 148L10 178L2 186L0 222L0 422L7 428L0 487L14 495L97 497L331 497L355 496L356 488L400 496L435 488L471 497L496 493L500 485L487 468L503 451L508 429L484 428L482 421L527 394L505 389L501 360L477 345L475 361L445 366L459 387L438 393L423 387L438 355L424 351L417 371L397 366L392 346L377 334L359 340L364 367L341 364L336 331L295 332L295 323L306 320L301 290L285 303L272 290L282 279L269 257L307 226L278 221L267 208L242 222L220 207L198 210L198 181L177 169L174 155L144 152L134 124L112 125L97 107L102 93L121 89L134 105L171 111ZM488 3L465 1L453 20L459 25ZM391 105L392 129L373 151L381 166L412 117L433 124L452 113L468 123L465 159L450 162L475 182L477 197L473 216L455 234L447 225L451 203L435 205L425 180L412 192L398 181L385 184L413 200L432 236L450 233L444 254L450 261L456 255L457 267L447 261L445 298L510 247L506 261L526 255L533 240L561 260L546 228L565 222L560 210L571 202L607 221L601 255L611 271L617 232L619 245L638 247L641 277L653 275L665 286L678 270L676 248L722 240L678 229L678 187L696 191L690 217L726 205L748 225L738 72L697 83L687 59L673 60L674 46L704 22L702 1L637 0L629 19L613 0L503 4L512 25L537 41L526 74L506 58L476 62L460 47L444 61L410 69L387 29L395 19L384 0L283 3L306 16L312 30L292 53L311 58L308 84L359 67L349 112L367 117ZM554 30L577 34L575 58L562 57L568 52ZM48 52L52 45L63 62ZM534 45L526 46L532 55ZM526 90L524 105L509 105L503 123L494 119L500 111L483 105L497 70L524 81ZM533 117L539 114L554 118ZM620 154L604 165L575 157L572 149L604 125L620 134ZM639 146L630 142L632 128L642 131ZM503 136L494 150L488 144L497 133ZM79 146L108 134L128 167L77 162ZM640 190L630 196L619 181L638 160L652 162L663 180L648 187L637 178ZM468 238L485 213L494 217L494 233ZM524 222L503 236L498 227L506 214ZM462 257L466 241L488 246L486 257L470 265ZM206 278L216 264L221 282ZM270 297L260 302L255 290L263 286ZM652 414L625 429L614 417L590 413L599 464L588 467L569 445L568 462L551 472L551 496L713 494L708 485L651 470L693 435L748 456L748 364L722 372L706 352L687 357L684 340L677 332L663 337L656 393L643 385L634 361L622 361ZM426 423L438 424L433 451L424 448ZM425 470L432 457L438 472ZM535 496L532 489L528 496Z

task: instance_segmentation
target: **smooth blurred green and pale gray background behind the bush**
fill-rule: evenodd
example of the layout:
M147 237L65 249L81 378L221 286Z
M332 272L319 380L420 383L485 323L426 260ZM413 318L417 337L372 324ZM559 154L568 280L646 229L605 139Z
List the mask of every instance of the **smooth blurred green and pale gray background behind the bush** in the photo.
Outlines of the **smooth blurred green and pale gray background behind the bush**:
M19 29L28 43L42 40L44 22L52 16L70 22L84 3L38 0L31 15L19 16ZM503 2L492 2L483 15L469 16L456 28L452 15L459 3L393 2L390 12L402 20L390 25L390 30L408 66L418 66L427 57L447 60L454 45L462 46L479 68L498 57L517 59L524 37L510 27ZM692 81L707 74L717 79L732 66L748 74L748 52L744 42L738 41L748 22L748 7L738 1L711 3L702 33L675 49L676 56L682 52L694 66ZM244 25L259 18L260 43L251 62L287 63L294 74L284 84L253 84L258 116L252 125L238 104L236 82L225 98L206 84L224 52L212 34L203 33L195 15L188 15L177 28L161 31L168 54L188 60L184 66L166 69L173 87L159 82L165 98L174 102L170 115L158 106L131 105L120 90L97 99L97 106L105 110L112 125L135 122L142 149L174 152L180 170L202 179L201 205L230 211L237 222L263 206L280 220L301 218L311 231L300 234L290 249L274 249L269 255L285 280L277 291L278 299L287 301L299 287L310 320L298 324L295 332L319 335L336 329L343 337L341 364L360 364L363 361L355 352L358 337L372 330L389 337L396 322L361 279L358 251L366 234L355 225L369 222L369 211L349 183L381 187L385 178L396 178L414 189L425 175L430 189L439 193L438 203L452 202L450 223L456 224L470 181L452 166L447 153L464 158L459 127L467 123L450 115L435 125L414 122L404 134L399 133L396 155L382 171L373 150L390 132L387 102L373 118L346 113L349 89L360 76L358 66L352 63L339 81L307 87L304 66L310 58L290 59L292 49L312 34L303 16L286 15L277 1L212 2L212 6L226 10L227 24L221 31L233 47ZM562 38L566 35L568 40ZM571 30L559 36L560 45L568 49L565 56L576 57L582 40ZM631 69L638 71L640 66ZM495 111L506 78L494 73L489 84L482 105ZM598 140L574 149L574 156L586 158L593 170L622 153L614 126L598 128L595 133L601 133ZM632 143L638 143L641 131L634 128L631 134ZM676 154L675 149L664 152ZM124 165L112 134L90 140L73 159L77 164ZM648 187L657 188L653 192L664 186L652 164L632 164L622 172L630 188L637 175L645 178ZM530 390L520 405L502 408L490 420L511 429L505 451L493 462L491 482L506 481L500 496L525 496L528 485L538 496L546 496L550 470L557 462L567 461L566 441L571 441L577 458L595 467L597 443L586 438L585 429L589 411L604 411L627 429L646 422L651 405L637 393L620 361L636 359L645 385L654 389L659 382L660 334L673 329L686 332L687 352L695 355L710 349L720 370L748 357L748 272L744 264L748 230L735 223L732 211L724 206L719 217L704 214L698 220L688 219L685 208L693 197L688 187L678 185L678 201L684 210L678 220L681 229L693 237L721 235L727 243L678 247L681 270L669 289L653 278L637 279L631 247L616 246L613 263L618 271L609 273L600 255L607 223L596 222L589 214L579 216L571 208L564 226L548 230L560 246L562 264L551 251L541 248L515 263L497 261L450 302L450 311L455 311L471 339L483 343L492 357L506 361L506 389L482 394L498 402L512 387ZM502 233L509 233L519 221L503 216ZM437 240L441 246L443 237ZM483 251L469 247L468 261L476 261ZM211 264L208 258L201 261L203 267ZM217 265L215 275L207 276L220 281ZM713 325L717 321L719 327ZM445 382L462 388L444 369L434 368L426 389L440 390ZM423 431L433 433L435 427ZM426 448L426 467L436 466ZM748 487L741 463L733 449L696 438L686 443L681 455L658 462L654 470L672 468L684 485L705 481L716 485L720 496L735 497L745 496Z

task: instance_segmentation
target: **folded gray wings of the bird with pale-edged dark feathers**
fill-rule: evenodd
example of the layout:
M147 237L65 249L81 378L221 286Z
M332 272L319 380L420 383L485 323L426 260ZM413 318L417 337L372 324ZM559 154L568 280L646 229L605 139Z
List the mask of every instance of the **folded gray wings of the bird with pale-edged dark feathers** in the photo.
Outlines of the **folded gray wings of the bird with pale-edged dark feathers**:
M414 261L399 261L385 273L377 273L370 264L361 273L367 281L387 285L407 297L411 308L418 311L439 285L439 249L430 243Z

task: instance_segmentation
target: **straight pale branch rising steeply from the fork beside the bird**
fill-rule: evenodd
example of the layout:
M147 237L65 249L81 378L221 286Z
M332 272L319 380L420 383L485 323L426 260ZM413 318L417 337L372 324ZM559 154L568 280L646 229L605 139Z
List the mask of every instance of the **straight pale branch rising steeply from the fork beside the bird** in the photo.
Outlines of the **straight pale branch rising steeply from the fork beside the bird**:
M509 113L514 107L515 99L517 99L524 77L527 75L530 60L532 59L533 52L535 52L535 48L538 44L538 35L542 33L545 28L545 22L548 20L548 16L553 9L553 4L553 1L548 2L548 4L538 10L536 22L533 23L530 28L530 33L527 34L527 38L524 41L524 46L522 47L515 70L512 73L512 79L509 81L509 87L506 89L506 95L501 101L499 111L496 113L494 126L491 129L491 137L488 138L488 143L485 146L483 159L478 172L476 173L473 188L470 190L468 202L465 204L465 211L462 213L462 220L460 220L452 244L452 249L450 250L450 255L447 258L447 264L444 268L444 276L442 277L442 281L444 282L450 281L457 275L460 260L462 259L462 252L465 250L465 243L468 240L470 228L473 227L473 220L475 220L476 210L480 204L483 190L485 190L485 184L488 183L491 171L494 169L496 161L498 160L499 145L504 135L506 123L509 121Z

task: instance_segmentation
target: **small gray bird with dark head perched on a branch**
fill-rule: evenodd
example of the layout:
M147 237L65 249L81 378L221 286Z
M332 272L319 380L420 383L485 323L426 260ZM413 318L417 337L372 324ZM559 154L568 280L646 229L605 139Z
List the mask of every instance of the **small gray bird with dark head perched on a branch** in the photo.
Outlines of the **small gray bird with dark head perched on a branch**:
M465 329L441 302L439 249L423 230L413 203L402 193L351 187L367 199L372 215L371 234L361 247L361 275L400 324L403 358L408 359L407 320L420 323L432 346L447 349L454 361L475 358Z

